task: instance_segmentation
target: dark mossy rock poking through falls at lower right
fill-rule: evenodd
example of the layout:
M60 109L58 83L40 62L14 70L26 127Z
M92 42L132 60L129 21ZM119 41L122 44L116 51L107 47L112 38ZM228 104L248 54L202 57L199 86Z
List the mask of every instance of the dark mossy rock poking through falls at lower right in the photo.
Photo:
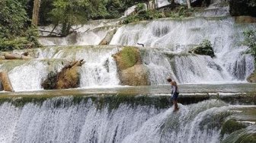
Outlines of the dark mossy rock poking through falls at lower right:
M238 131L239 129L244 129L246 126L241 122L237 122L235 119L229 119L222 126L220 134L223 136L225 134L231 134L232 132Z

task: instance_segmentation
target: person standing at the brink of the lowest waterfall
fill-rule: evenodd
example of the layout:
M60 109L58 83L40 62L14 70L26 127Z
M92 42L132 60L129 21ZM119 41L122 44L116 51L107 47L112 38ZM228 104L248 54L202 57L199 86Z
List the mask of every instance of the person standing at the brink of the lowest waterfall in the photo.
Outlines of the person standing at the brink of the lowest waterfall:
M174 103L174 112L178 111L178 86L176 81L172 81L171 78L168 78L167 81L171 84L171 100Z

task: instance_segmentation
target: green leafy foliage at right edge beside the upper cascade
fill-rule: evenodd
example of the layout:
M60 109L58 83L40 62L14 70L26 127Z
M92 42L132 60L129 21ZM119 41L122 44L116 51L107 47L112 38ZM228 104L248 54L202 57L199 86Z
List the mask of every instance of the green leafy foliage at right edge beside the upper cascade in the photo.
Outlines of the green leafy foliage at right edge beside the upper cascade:
M246 30L244 37L243 44L248 46L247 53L254 57L254 62L256 63L256 30Z

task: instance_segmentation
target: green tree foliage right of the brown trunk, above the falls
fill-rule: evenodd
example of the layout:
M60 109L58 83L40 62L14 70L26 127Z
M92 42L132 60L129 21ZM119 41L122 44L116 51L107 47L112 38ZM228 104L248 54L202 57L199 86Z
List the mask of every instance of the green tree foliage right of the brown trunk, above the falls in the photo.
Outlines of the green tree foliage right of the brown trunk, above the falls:
M85 24L91 17L107 14L101 0L54 0L50 11L50 21L62 25L62 36L71 33L72 25Z

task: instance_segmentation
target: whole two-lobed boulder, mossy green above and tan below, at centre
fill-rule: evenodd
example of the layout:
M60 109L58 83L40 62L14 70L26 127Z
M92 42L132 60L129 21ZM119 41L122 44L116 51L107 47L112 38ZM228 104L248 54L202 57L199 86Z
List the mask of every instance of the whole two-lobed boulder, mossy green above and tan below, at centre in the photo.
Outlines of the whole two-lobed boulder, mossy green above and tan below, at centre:
M113 57L117 62L118 75L122 85L150 85L149 69L142 64L138 48L125 47Z

